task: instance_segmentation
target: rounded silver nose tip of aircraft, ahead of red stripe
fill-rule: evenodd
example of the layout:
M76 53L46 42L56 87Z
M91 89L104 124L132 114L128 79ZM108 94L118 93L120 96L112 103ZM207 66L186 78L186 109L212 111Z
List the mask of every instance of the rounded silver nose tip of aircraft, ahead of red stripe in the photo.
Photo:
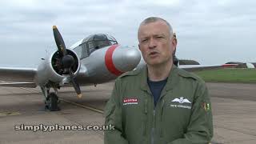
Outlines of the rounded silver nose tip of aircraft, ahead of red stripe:
M131 47L118 47L113 57L114 66L122 72L134 70L141 60L139 50Z

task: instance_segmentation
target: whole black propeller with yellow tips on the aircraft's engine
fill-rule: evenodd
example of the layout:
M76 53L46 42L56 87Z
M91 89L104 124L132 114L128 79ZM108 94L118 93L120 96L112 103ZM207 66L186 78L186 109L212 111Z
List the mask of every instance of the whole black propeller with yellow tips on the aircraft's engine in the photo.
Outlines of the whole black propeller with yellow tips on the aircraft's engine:
M74 80L74 73L71 69L74 66L74 58L72 55L67 54L65 42L63 41L62 34L58 31L57 26L53 26L54 39L58 47L58 53L61 56L61 64L64 69L63 74L70 74L70 83L73 85L75 92L78 94L78 98L82 97L80 86L78 82Z

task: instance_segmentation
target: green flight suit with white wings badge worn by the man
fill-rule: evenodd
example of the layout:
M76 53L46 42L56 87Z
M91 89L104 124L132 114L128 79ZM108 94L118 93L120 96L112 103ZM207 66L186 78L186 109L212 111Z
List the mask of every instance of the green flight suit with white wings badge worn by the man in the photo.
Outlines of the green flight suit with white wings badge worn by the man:
M122 74L105 107L105 144L201 144L213 137L210 97L205 82L172 66L154 107L147 67Z

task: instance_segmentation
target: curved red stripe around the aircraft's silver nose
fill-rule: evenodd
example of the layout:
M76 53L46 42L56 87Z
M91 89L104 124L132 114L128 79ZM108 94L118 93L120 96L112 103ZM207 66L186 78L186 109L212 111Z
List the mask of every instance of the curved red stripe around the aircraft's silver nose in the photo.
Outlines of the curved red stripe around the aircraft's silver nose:
M107 70L110 71L110 73L114 74L114 75L121 75L124 72L118 70L115 66L114 66L114 62L113 62L113 53L114 50L118 47L118 45L113 45L110 46L110 48L108 50L106 50L106 54L105 54L105 65Z

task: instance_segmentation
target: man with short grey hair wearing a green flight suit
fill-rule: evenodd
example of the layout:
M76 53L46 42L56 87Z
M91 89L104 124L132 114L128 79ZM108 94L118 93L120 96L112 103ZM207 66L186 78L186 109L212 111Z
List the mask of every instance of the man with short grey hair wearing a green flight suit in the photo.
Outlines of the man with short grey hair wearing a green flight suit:
M213 137L205 82L173 64L177 40L168 22L146 18L138 29L146 62L116 79L106 104L106 144L209 143Z

